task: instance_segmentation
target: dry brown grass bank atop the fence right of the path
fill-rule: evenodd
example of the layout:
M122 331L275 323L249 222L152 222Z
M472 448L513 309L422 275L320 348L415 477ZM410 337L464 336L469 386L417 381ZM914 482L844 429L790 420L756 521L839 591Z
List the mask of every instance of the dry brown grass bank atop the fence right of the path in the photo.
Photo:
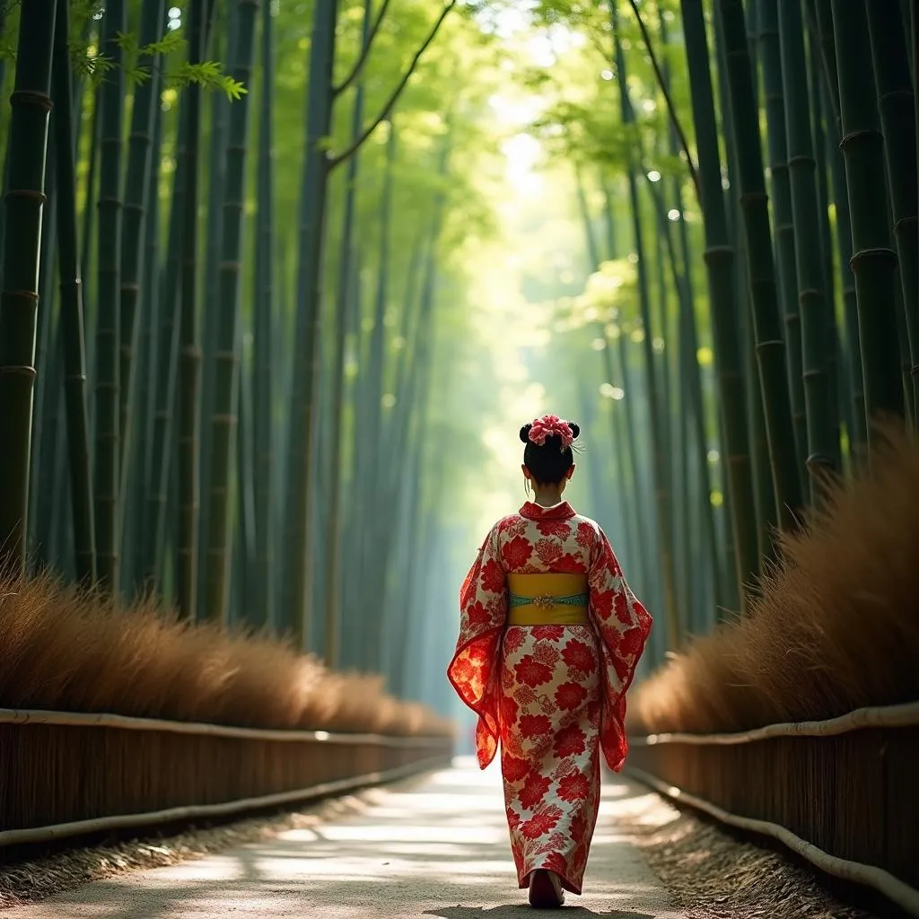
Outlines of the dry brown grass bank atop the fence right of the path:
M633 732L737 732L919 699L919 442L899 427L836 485L743 619L636 687Z

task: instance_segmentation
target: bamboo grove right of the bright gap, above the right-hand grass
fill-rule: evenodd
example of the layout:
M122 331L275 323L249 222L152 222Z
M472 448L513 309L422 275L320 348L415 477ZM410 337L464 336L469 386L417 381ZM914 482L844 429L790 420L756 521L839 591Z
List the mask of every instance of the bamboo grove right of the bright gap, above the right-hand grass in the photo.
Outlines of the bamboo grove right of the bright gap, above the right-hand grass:
M660 661L743 610L777 530L870 461L874 419L914 428L914 5L539 13L582 37L530 75L585 241L554 288L562 366L588 443L613 446L589 490Z

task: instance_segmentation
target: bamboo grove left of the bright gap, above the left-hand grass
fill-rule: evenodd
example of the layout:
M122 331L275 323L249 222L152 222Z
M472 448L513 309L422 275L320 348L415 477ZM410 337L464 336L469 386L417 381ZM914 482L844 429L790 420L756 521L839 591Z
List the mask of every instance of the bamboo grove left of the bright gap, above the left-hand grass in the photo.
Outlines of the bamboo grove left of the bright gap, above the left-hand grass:
M486 43L437 40L465 34L455 0L390 6L5 8L0 530L6 573L418 695L404 653L442 636L404 611L455 539L428 393L462 354L459 228L486 220L453 165L483 90L455 74Z

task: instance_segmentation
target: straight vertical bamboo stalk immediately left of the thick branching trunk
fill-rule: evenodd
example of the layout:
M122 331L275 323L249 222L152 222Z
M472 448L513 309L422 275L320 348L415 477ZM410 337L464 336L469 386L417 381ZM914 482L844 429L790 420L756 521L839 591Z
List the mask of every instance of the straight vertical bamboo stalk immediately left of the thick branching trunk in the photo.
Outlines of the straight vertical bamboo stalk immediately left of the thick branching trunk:
M254 625L275 621L275 502L274 430L272 425L274 366L275 290L274 249L274 85L275 44L271 4L262 3L261 105L258 116L258 204L255 225L255 376L253 430L255 433L255 585L251 621Z

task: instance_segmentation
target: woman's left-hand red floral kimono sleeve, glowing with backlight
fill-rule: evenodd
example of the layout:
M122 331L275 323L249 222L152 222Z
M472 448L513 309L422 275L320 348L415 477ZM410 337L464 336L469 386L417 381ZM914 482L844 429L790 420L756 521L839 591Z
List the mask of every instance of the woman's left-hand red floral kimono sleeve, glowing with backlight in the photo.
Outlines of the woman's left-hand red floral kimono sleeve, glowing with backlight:
M482 769L498 742L499 655L507 620L506 574L498 528L482 543L459 590L459 641L447 669L457 695L478 716L476 752Z

